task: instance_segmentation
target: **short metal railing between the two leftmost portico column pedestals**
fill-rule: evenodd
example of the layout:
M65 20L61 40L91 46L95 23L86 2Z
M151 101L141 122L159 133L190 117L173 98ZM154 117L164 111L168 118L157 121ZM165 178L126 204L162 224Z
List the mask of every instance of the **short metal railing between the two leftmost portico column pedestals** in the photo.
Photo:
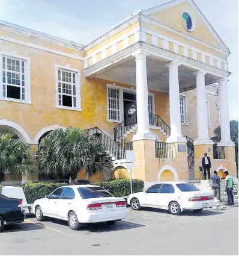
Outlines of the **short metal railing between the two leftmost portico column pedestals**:
M155 142L156 158L175 158L174 143Z

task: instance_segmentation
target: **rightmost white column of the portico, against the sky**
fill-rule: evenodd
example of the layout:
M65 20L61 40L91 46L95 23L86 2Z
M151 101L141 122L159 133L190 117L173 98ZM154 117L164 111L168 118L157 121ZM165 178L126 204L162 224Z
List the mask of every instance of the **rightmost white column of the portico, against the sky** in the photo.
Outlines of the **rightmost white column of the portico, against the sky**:
M234 146L230 134L230 119L228 107L228 78L221 78L217 80L219 83L219 104L220 104L220 127L221 127L221 146Z

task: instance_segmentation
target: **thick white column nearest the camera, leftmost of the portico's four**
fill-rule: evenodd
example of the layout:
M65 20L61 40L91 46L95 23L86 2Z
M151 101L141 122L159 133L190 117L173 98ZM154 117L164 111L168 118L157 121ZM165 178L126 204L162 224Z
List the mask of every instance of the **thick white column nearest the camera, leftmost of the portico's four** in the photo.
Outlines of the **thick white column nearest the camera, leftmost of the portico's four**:
M136 104L137 104L137 128L133 140L155 140L150 132L148 117L148 83L147 83L147 52L138 51L135 54L136 61Z

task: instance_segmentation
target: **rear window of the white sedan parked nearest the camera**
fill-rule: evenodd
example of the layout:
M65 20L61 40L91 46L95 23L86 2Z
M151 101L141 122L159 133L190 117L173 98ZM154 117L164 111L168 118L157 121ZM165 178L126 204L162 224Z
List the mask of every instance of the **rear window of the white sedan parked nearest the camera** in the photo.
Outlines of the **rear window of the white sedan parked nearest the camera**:
M102 187L79 187L77 190L79 191L82 199L112 198L112 195L110 195L110 193Z

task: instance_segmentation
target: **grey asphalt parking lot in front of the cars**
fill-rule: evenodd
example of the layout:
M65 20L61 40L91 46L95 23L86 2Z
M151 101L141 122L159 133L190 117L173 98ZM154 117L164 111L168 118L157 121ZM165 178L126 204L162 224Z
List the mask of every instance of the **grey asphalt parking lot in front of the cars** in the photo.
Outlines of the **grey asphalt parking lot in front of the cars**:
M238 255L238 208L181 216L128 209L113 226L79 231L60 220L26 219L0 233L0 255Z

